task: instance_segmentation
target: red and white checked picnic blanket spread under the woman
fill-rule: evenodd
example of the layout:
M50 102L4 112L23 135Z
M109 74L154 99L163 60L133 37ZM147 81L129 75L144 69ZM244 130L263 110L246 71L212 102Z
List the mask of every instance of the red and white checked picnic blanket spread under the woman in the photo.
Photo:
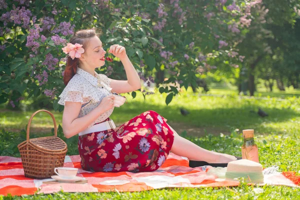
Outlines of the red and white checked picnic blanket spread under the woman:
M237 186L238 181L217 181L208 175L211 166L191 168L188 159L170 153L161 167L152 172L90 172L80 167L79 155L65 156L64 166L79 168L78 176L86 183L54 183L53 179L32 179L24 176L21 158L0 156L0 195L22 195L65 192L143 191L165 187ZM268 169L268 168L266 168ZM264 170L264 184L300 187L300 176L294 172ZM51 181L51 182L49 182Z

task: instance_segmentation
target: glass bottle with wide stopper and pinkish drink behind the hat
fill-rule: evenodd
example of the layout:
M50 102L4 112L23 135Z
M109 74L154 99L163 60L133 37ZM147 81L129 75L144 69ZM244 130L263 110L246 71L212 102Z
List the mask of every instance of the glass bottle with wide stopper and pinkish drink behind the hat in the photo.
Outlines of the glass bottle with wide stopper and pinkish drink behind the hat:
M258 148L254 141L254 130L246 129L242 130L243 142L241 146L241 157L242 159L248 159L255 162L258 160Z

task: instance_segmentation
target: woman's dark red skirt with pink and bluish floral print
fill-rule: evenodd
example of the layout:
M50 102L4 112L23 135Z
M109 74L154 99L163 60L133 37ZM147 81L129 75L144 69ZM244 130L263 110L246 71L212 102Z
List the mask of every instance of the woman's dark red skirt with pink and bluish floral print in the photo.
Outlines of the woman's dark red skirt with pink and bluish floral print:
M166 159L173 140L166 119L145 111L114 129L79 136L81 167L88 171L153 171Z

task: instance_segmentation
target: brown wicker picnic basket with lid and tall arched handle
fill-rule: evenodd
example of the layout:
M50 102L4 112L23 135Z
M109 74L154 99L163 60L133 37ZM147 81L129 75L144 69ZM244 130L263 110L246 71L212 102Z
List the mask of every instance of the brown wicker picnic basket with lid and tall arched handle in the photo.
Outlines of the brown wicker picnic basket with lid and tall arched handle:
M29 139L31 120L40 111L51 115L54 123L54 136ZM66 143L57 137L56 121L53 114L44 109L34 112L29 118L26 133L26 140L17 146L22 159L24 175L37 179L51 177L54 174L55 167L63 166L67 151Z

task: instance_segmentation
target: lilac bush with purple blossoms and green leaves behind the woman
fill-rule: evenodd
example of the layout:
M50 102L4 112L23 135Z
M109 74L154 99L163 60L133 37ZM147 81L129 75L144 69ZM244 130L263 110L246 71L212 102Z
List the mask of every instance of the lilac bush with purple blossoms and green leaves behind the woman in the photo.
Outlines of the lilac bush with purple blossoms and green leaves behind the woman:
M0 103L16 106L20 97L45 95L52 99L54 109L62 110L57 103L64 88L61 48L81 28L101 29L106 49L114 43L124 45L146 85L157 82L154 71L165 71L165 83L185 87L209 70L230 71L244 60L236 44L251 23L251 7L260 3L0 0ZM124 78L120 66L115 61L99 72ZM169 93L166 103L178 92L157 87Z

